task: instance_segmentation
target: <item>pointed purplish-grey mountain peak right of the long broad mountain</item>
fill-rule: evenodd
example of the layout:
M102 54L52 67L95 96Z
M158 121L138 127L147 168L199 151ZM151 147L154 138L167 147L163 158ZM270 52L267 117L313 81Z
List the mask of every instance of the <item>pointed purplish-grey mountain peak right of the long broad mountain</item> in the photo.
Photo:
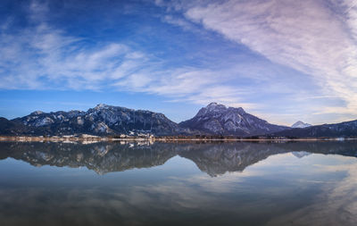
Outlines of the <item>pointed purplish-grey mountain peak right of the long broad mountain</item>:
M287 130L289 127L270 124L242 107L226 107L211 103L195 115L194 118L179 123L181 127L192 130L203 130L215 135L254 136Z

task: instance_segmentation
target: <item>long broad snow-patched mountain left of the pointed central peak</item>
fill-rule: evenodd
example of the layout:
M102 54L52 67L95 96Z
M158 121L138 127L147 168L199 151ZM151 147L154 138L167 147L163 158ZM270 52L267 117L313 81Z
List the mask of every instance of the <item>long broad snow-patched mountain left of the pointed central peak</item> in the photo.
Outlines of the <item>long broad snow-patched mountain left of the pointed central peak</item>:
M190 134L162 113L133 110L120 106L96 105L87 112L70 111L43 113L40 111L12 120L27 128L25 134L71 135L71 134L133 134L154 135Z

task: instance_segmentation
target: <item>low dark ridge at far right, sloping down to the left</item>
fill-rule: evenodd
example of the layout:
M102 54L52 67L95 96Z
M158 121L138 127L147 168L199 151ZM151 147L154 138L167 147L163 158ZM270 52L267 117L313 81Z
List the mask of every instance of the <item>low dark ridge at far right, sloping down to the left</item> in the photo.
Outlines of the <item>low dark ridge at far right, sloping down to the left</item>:
M270 134L270 136L292 138L357 137L357 120L284 130Z

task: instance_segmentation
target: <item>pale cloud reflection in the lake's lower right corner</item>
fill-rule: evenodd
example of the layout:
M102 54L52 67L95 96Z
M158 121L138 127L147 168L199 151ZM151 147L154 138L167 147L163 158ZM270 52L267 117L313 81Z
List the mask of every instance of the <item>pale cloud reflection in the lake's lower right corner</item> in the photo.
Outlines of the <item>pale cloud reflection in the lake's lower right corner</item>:
M335 158L342 157L336 156ZM311 222L319 222L319 225L355 225L357 223L354 217L357 211L355 202L357 169L354 160L353 163L346 162L340 165L315 164L315 172L345 172L346 176L338 181L311 181L322 184L322 191L313 202L292 213L271 219L267 225L286 225L291 222L294 222L293 225L306 225Z

